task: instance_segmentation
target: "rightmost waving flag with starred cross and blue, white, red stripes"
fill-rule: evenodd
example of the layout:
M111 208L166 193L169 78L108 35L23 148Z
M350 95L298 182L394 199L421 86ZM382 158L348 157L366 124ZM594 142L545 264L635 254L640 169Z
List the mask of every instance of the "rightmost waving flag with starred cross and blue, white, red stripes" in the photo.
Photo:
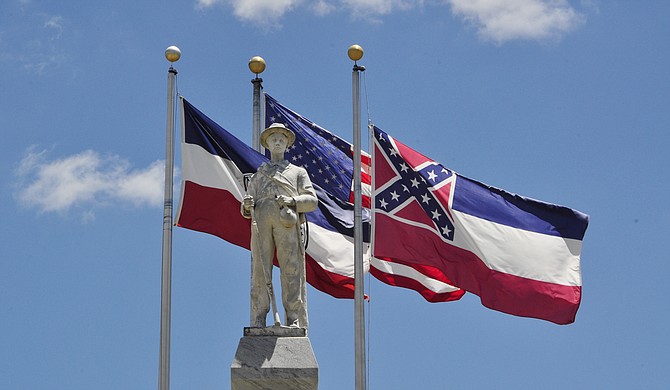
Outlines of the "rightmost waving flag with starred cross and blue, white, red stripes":
M375 258L494 310L574 322L587 215L458 175L378 128L374 139Z

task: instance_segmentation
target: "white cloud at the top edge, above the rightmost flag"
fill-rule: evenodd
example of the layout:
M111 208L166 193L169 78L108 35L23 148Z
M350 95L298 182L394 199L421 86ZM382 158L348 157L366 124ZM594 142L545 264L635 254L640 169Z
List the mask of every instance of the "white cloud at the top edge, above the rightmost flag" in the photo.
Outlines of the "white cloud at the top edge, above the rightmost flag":
M555 39L585 21L566 0L447 0L485 40Z

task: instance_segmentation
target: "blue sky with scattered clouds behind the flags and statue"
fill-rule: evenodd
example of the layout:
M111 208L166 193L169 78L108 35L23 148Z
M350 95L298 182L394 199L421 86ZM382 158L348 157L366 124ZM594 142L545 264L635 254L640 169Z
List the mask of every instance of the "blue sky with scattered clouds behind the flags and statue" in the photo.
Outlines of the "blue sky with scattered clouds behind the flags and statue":
M591 216L568 326L368 280L369 388L666 388L668 20L664 1L3 1L0 388L157 386L166 47L179 92L250 143L255 55L266 92L351 140L354 43L364 121ZM172 388L226 388L248 253L173 240ZM353 301L308 296L321 388L353 388Z

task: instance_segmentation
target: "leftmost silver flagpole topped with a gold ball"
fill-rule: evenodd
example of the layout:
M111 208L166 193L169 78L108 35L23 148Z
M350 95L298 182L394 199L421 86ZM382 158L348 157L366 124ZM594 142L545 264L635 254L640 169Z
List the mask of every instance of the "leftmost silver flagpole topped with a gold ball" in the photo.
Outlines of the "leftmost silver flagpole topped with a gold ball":
M165 50L165 58L177 62L181 51L176 46ZM172 315L172 175L174 172L174 101L177 70L168 70L167 128L165 131L165 197L163 207L163 269L161 274L161 341L158 363L158 389L170 388L170 317Z

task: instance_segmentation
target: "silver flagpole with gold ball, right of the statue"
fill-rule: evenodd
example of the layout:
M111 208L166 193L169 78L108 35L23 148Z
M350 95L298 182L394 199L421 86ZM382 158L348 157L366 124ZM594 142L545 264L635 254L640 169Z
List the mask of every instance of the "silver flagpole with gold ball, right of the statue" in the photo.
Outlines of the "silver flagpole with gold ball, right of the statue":
M361 105L360 72L365 67L356 61L363 58L363 48L352 45L347 52L354 61L352 91L354 105L354 347L356 353L356 390L365 390L365 308L363 306L363 199L361 193Z

